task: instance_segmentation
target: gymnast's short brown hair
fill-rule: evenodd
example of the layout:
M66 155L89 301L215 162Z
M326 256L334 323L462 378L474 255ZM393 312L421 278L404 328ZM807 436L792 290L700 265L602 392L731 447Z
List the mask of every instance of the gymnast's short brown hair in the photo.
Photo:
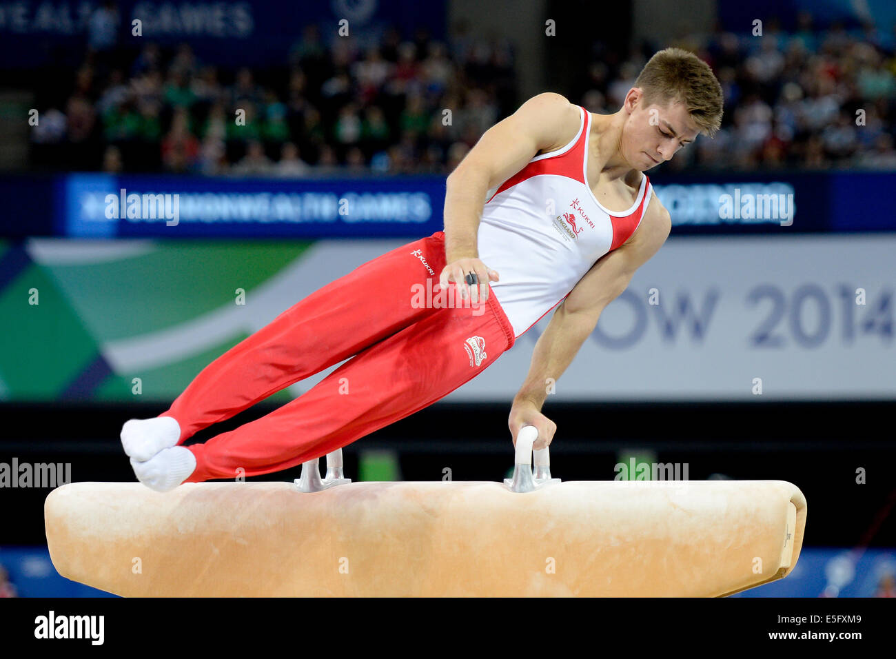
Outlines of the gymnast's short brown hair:
M700 132L710 137L722 125L722 86L710 65L683 48L666 48L650 57L634 87L643 91L644 107L680 101Z

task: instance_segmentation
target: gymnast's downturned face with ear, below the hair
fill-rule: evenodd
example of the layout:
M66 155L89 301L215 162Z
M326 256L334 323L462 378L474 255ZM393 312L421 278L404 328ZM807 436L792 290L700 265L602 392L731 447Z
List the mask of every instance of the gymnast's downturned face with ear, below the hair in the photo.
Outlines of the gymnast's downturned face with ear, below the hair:
M622 152L634 169L650 169L672 160L680 149L693 143L700 128L679 100L665 106L644 105L641 89L634 87L625 97L628 119L622 131Z

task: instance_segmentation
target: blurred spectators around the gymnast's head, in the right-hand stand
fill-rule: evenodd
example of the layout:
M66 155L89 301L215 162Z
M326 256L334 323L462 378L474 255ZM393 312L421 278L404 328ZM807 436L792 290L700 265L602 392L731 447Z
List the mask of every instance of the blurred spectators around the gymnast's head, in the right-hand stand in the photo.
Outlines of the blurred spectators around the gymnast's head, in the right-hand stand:
M598 43L573 96L591 112L615 112L650 55L677 46L711 66L725 113L713 139L698 137L661 168L896 168L896 26L818 28L808 12L797 23L785 32L770 20L755 36L715 30L623 56Z

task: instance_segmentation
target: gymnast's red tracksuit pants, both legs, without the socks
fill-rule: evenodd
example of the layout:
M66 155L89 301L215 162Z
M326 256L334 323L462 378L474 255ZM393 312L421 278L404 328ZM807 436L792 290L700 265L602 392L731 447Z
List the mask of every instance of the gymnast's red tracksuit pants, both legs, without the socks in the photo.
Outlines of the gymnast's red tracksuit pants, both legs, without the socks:
M513 345L513 327L492 290L486 304L471 305L452 282L440 299L444 265L444 232L436 231L314 291L202 369L159 415L180 424L178 444L351 357L294 401L187 447L196 469L186 482L277 472L326 455L487 369Z

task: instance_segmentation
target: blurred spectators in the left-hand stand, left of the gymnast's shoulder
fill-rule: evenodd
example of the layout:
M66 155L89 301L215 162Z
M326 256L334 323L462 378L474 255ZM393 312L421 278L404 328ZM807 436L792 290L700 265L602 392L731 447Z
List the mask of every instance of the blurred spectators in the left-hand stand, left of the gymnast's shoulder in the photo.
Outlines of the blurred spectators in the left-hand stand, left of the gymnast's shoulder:
M505 46L458 39L450 49L425 30L404 40L393 28L373 48L327 44L312 24L287 65L224 71L188 44L109 48L109 22L91 22L101 38L89 37L71 91L41 110L32 164L210 176L446 173L514 109Z

